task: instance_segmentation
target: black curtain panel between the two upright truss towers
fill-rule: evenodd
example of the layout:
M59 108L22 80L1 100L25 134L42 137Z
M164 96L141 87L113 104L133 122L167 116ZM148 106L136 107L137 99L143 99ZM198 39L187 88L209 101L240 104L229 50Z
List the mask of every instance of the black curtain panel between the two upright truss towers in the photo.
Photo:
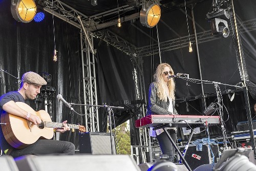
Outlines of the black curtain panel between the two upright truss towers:
M135 100L134 68L129 55L104 42L98 43L99 40L96 40L99 103L124 107L121 111L113 110L115 122L112 121L112 127L115 127L135 116L134 106L131 105L131 101ZM106 109L101 109L100 114L101 131L105 132L108 113Z

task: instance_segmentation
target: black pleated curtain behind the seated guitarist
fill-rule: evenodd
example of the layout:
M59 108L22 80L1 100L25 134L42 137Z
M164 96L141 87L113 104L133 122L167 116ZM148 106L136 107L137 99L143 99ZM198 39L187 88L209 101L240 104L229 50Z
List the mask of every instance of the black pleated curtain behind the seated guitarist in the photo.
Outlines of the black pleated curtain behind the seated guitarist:
M0 1L0 68L11 75L21 78L25 72L46 72L52 75L47 85L56 92L52 98L54 120L68 123L82 123L81 117L70 112L66 106L59 105L56 95L61 94L69 102L83 103L79 32L74 26L54 17L55 45L58 60L53 61L54 34L52 15L46 13L41 23L18 23L11 14L11 1ZM18 89L17 79L0 72L1 95ZM38 99L41 109L44 100ZM34 101L30 102L36 110ZM83 113L79 106L74 106ZM38 110L38 108L37 108ZM73 142L78 146L77 132L60 134L57 139Z

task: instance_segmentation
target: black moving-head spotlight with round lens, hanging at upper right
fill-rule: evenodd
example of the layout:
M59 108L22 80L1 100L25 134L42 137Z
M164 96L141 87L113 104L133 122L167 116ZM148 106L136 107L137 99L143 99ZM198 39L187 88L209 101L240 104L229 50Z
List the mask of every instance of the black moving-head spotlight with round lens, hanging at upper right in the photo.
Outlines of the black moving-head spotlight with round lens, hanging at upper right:
M225 9L221 9L220 4L215 3L212 5L214 11L208 12L206 17L210 21L211 33L217 37L228 37L229 29L227 20L229 19L229 14Z

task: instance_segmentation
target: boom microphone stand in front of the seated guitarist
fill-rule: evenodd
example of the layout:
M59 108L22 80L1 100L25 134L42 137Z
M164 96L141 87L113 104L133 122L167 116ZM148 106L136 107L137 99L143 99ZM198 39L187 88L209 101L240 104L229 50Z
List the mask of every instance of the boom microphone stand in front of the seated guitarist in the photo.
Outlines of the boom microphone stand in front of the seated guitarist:
M113 144L113 137L112 137L112 120L111 120L111 111L112 109L124 109L121 106L110 106L110 105L94 105L94 104L75 104L75 103L70 103L70 105L86 105L86 106L94 106L94 107L102 107L106 108L109 114L109 125L110 125L110 141L111 141L111 154L114 155L114 144ZM70 109L73 110L73 108L70 106ZM74 110L73 110L74 111ZM74 111L75 112L75 111ZM77 112L76 112L77 113ZM115 118L113 118L115 119Z

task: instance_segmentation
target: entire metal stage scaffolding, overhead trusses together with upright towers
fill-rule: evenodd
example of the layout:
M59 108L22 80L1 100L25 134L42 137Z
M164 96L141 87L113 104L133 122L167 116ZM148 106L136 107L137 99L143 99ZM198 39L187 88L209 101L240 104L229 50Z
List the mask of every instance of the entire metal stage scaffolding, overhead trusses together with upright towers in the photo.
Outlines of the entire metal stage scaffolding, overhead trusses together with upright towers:
M42 1L42 0L40 0ZM180 49L183 47L188 47L189 37L178 37L172 40L168 40L165 42L160 42L160 48L158 47L158 44L154 44L153 46L144 46L144 47L136 47L132 45L130 42L127 42L122 37L118 36L117 34L111 32L108 29L104 29L106 27L109 27L111 25L114 25L116 22L111 23L103 23L100 25L100 31L97 31L95 28L95 25L91 25L92 20L90 20L89 16L86 16L82 14L81 12L73 9L72 7L68 6L67 4L61 2L61 1L54 1L52 4L52 1L45 0L42 1L47 6L44 8L45 11L55 15L56 17L65 20L67 23L72 24L73 26L80 28L81 25L79 24L77 17L80 16L82 23L84 27L86 27L88 32L88 35L90 35L90 41L91 45L93 45L93 38L99 38L101 41L105 41L107 44L114 46L118 50L124 52L125 54L131 56L131 60L134 66L133 76L134 76L134 86L136 90L136 100L146 100L146 91L144 86L144 77L143 77L143 57L151 56L154 54L159 53L159 49L161 52L165 51L172 51L175 49ZM116 9L117 11L120 10L120 8L127 8L130 7L124 6L119 7L119 9ZM105 15L108 14L108 11L105 12ZM95 16L97 17L97 16ZM122 20L122 22L126 22L128 20L136 19L139 15L132 14L130 16L127 16L125 19ZM251 19L247 21L241 21L238 23L238 28L240 33L244 32L250 32L253 30L256 30L256 19ZM195 42L195 35L190 35L191 42ZM215 37L211 34L210 30L203 31L200 33L197 33L197 40L198 44L201 44L203 42L211 41L219 39L220 37ZM83 35L83 33L80 33L80 41L81 41L81 58L82 58L82 76L83 76L83 93L84 93L84 103L86 104L96 104L97 105L97 89L96 89L96 75L95 75L95 62L94 62L94 54L90 52L87 39ZM145 101L146 104L146 101ZM144 117L146 112L146 105L143 104L142 108L140 109L140 115L137 117ZM138 106L137 106L138 107ZM88 107L84 106L85 114L85 124L87 131L89 132L96 132L99 131L99 125L98 125L98 110L94 107ZM151 142L148 129L143 128L139 129L139 145L136 145L136 148L139 146L140 149L140 159L143 158L143 154L145 152L148 152L148 149L150 149ZM149 146L149 147L148 147ZM137 150L137 149L136 149ZM143 161L142 161L143 162Z

